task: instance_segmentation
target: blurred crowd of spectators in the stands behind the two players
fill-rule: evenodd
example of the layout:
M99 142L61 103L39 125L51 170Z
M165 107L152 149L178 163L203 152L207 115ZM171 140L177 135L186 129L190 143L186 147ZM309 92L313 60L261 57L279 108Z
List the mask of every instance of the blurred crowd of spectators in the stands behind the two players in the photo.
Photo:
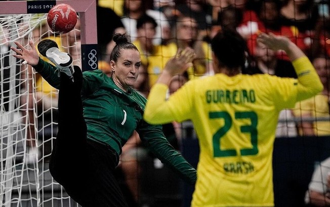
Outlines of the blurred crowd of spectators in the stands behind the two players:
M223 28L236 30L247 43L247 60L242 73L297 78L285 52L271 51L256 42L260 32L286 36L308 55L324 90L299 102L295 109L281 111L276 136L330 135L330 17L326 1L99 0L97 20L99 69L111 73L108 65L113 48L111 37L114 33L126 32L141 53L142 66L135 89L145 97L164 64L178 49L191 47L196 58L186 74L174 78L169 94L188 80L213 75L210 42ZM171 144L180 150L181 125L172 123L163 129ZM138 134L123 148L119 169L125 172L124 179L134 198L132 203L139 201L141 193L138 182L143 172L139 163L149 156Z

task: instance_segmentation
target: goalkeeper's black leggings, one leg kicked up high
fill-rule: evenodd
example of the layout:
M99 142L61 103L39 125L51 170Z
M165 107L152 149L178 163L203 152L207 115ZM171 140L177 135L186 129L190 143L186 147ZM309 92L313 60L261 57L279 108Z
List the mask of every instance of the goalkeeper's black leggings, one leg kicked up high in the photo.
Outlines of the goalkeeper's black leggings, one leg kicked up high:
M128 206L114 176L117 156L106 145L87 140L80 98L82 74L74 82L61 73L58 134L49 164L53 178L83 207Z

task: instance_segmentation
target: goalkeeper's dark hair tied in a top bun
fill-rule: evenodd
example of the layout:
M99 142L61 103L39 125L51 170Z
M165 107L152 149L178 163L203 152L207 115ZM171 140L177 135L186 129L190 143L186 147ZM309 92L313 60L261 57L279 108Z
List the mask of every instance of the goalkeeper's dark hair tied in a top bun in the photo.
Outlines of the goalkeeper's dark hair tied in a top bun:
M120 57L120 51L121 50L129 50L129 49L134 49L138 50L138 48L130 43L128 39L125 36L126 34L121 34L121 33L116 33L113 36L113 41L116 43L116 46L114 46L111 55L110 55L110 60L117 61L118 57Z

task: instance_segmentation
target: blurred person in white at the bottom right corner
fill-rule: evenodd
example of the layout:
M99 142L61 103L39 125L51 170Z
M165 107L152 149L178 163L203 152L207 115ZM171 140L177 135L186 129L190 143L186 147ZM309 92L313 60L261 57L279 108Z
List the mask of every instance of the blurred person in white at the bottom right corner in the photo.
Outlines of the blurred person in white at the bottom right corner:
M330 157L315 167L305 202L308 206L330 205Z

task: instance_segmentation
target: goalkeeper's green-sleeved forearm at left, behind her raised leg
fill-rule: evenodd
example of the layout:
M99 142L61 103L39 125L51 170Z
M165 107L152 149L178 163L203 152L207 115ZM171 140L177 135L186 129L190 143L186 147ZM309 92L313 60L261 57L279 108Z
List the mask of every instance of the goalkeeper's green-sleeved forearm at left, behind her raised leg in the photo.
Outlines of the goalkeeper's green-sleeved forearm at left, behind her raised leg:
M39 58L38 64L34 65L33 68L38 72L51 86L59 89L60 78L56 71L56 67L50 63Z

